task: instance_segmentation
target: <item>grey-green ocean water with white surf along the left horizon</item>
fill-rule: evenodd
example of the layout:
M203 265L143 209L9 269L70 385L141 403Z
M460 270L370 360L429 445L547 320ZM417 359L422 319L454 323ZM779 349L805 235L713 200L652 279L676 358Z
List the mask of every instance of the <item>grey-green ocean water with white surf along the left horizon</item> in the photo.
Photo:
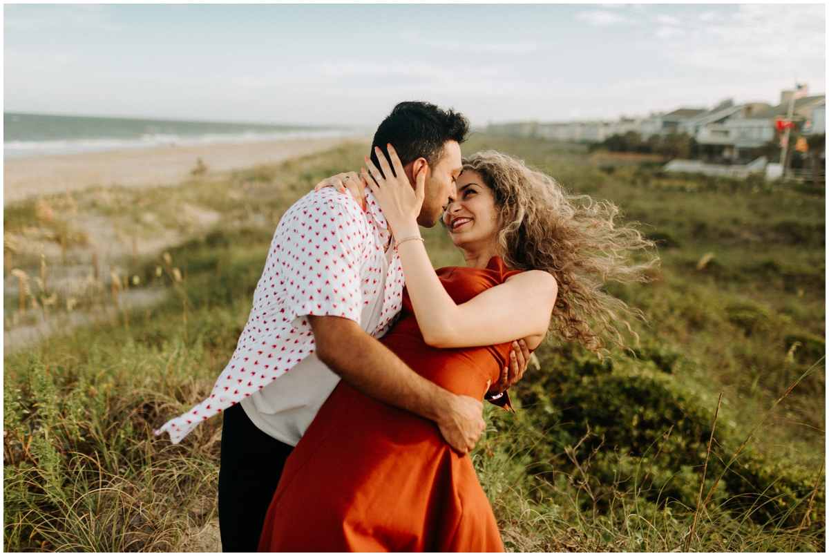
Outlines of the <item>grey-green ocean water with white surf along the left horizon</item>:
M358 128L3 113L3 157L349 137Z

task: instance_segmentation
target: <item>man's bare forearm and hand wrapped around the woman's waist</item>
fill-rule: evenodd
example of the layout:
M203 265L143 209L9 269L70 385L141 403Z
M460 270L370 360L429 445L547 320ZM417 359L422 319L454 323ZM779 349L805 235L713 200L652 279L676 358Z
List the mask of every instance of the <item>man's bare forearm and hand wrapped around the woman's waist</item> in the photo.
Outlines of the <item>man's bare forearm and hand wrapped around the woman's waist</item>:
M485 423L480 401L458 396L411 370L397 355L341 317L308 317L316 353L353 389L385 404L434 421L446 442L467 453Z

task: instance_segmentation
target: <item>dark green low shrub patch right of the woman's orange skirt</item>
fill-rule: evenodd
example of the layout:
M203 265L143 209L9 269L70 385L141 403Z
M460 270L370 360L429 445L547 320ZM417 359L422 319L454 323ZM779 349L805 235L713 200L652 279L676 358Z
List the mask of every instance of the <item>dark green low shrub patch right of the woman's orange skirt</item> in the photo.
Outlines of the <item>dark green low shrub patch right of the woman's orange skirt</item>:
M608 510L613 491L627 482L641 500L696 506L716 399L660 372L653 361L600 362L574 346L545 351L540 359L542 370L528 377L532 385L521 389L521 401L536 413L539 429L553 431L547 438L551 449L536 450L541 476L551 480L562 468L577 474L582 471L575 462L590 461L597 481L584 504ZM725 474L715 503L750 512L756 522L797 525L815 477L750 446L726 470L744 439L725 419L715 431L705 496ZM568 453L567 447L577 448ZM825 507L822 495L815 500Z

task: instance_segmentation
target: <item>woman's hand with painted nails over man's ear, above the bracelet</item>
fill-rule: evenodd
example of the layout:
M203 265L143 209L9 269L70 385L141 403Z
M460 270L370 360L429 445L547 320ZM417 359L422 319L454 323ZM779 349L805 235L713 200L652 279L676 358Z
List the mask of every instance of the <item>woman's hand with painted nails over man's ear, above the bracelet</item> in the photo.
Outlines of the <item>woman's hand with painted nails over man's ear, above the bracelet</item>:
M403 238L419 235L417 217L420 214L420 206L423 205L425 196L427 166L424 165L417 176L414 176L415 184L412 188L403 164L400 162L400 157L395 152L395 147L389 144L388 148L391 166L389 161L385 159L380 147L375 147L377 160L380 162L383 173L381 174L377 170L377 167L371 162L371 158L366 157L369 172L364 171L363 178L371 192L377 197L377 201L380 202L383 216L385 216L385 220L389 223L389 227L394 231L395 236ZM391 170L392 166L394 172Z

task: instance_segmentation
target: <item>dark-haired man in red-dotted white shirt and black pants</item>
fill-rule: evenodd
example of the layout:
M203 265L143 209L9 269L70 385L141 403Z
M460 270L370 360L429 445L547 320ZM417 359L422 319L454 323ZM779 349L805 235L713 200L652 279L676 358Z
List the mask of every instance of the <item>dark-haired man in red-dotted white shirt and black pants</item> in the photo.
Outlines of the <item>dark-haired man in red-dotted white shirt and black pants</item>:
M374 146L394 144L411 182L427 168L420 225L434 225L453 199L467 133L461 114L422 102L398 104L377 128ZM370 192L365 210L330 187L294 204L279 222L249 321L211 397L157 432L179 442L226 409L219 475L225 551L255 551L284 462L341 379L434 421L458 452L478 441L480 401L417 375L376 340L402 304L393 242ZM496 388L505 389L520 366Z

